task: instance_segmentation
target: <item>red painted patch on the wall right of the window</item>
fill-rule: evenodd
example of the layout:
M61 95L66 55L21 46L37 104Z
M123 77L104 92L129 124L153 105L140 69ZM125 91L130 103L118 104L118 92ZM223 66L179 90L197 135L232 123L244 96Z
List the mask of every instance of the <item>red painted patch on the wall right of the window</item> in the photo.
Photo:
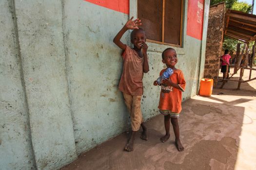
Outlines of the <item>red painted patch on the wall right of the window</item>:
M187 35L202 40L204 0L188 1Z

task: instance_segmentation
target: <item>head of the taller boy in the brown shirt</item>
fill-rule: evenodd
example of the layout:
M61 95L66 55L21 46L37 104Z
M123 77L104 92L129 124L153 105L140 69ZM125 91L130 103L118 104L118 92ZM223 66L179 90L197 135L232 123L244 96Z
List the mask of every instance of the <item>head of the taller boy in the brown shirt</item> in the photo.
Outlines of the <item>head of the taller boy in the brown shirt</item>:
M134 30L131 35L131 42L135 49L141 49L146 42L146 35L143 30Z

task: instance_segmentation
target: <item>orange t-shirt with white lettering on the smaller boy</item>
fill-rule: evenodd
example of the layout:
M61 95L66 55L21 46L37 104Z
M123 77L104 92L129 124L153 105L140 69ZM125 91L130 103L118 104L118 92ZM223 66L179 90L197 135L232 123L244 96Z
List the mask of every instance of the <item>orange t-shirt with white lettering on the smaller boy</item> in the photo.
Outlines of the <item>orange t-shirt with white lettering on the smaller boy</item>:
M162 75L165 70L166 69L161 70L160 75ZM180 113L182 92L184 92L186 86L184 75L180 69L176 69L169 79L179 85L182 91L170 85L162 84L158 108L160 110L170 110L174 113Z

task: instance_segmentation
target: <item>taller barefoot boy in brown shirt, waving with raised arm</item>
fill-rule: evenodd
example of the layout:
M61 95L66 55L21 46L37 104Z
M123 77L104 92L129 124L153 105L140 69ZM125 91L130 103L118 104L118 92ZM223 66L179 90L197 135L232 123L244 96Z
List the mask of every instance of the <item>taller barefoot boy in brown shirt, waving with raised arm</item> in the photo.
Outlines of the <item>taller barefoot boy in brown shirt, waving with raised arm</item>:
M141 126L143 132L141 139L147 140L147 129L143 123L142 113L140 110L140 100L143 94L143 72L149 71L145 32L138 28L141 21L137 18L135 20L129 19L123 28L118 32L114 38L114 43L123 50L123 71L119 82L119 90L123 93L124 102L129 110L132 125L132 135L126 144L124 150L132 151L136 132ZM131 33L131 42L134 48L123 44L120 39L127 30L133 30Z

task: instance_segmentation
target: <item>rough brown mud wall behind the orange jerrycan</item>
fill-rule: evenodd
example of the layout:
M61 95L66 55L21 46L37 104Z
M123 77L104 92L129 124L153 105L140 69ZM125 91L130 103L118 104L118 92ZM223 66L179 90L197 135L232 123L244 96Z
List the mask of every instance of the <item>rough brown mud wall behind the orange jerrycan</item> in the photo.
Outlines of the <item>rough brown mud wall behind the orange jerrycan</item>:
M204 78L214 79L217 85L219 56L222 49L225 4L214 5L209 10L208 31L205 52Z

